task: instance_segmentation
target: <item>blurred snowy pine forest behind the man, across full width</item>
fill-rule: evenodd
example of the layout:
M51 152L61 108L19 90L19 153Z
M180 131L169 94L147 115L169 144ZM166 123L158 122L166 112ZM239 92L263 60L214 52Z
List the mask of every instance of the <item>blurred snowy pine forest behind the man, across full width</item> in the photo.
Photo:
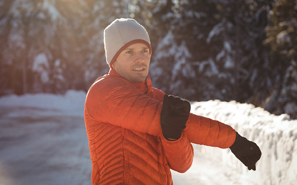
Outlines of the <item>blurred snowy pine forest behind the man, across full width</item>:
M121 17L148 31L154 87L297 118L297 0L0 0L0 96L86 92Z

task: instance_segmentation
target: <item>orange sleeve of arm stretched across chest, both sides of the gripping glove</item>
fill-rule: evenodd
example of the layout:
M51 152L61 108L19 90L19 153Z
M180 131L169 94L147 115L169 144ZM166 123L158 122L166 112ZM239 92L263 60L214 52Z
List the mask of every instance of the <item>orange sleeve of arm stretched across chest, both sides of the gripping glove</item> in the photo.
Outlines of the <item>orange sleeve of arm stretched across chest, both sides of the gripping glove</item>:
M85 111L94 120L154 136L162 135L161 110L161 102L132 84L110 78L93 85L85 103ZM235 141L236 131L231 126L193 113L186 126L191 143L229 148Z

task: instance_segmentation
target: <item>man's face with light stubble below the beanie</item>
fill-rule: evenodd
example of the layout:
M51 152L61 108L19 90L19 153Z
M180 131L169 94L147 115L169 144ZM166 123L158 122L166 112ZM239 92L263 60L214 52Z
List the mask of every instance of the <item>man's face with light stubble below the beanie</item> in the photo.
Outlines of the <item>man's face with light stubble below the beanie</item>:
M148 76L149 47L136 43L126 47L112 64L112 68L131 82L143 82Z

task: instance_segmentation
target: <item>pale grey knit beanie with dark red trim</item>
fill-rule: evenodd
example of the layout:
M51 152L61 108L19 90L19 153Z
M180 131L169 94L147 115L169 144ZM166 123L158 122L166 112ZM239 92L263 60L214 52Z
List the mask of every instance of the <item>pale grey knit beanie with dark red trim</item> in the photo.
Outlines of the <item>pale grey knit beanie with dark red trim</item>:
M107 26L104 30L104 49L109 67L126 47L135 43L146 44L151 54L148 33L136 20L116 19Z

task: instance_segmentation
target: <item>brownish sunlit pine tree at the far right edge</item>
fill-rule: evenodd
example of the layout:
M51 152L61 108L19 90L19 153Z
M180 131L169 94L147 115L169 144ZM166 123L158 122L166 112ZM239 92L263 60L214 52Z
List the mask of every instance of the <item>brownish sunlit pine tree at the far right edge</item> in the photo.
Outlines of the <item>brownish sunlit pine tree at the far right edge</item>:
M276 95L268 109L297 118L297 2L276 0L269 11L264 43L271 48L269 65L274 69Z

